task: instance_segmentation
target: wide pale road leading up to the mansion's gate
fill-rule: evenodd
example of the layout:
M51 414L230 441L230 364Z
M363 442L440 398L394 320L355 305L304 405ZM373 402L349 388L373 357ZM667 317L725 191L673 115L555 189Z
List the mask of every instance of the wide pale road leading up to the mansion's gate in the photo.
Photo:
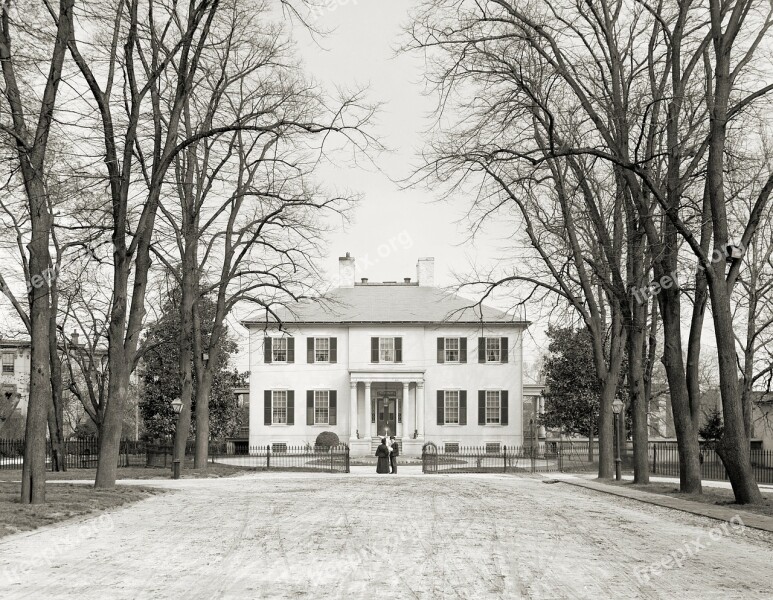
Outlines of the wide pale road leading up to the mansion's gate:
M531 476L356 471L165 482L4 538L0 598L773 597L763 532Z

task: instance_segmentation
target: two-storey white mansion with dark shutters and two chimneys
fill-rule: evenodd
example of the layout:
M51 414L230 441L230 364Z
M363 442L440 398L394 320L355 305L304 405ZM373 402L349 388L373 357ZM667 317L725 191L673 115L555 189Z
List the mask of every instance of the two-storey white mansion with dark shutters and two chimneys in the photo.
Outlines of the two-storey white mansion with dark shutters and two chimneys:
M459 446L524 442L522 340L528 322L434 287L434 259L418 281L355 282L340 261L340 287L304 302L282 327L250 330L250 447L314 444L334 431L353 456L395 435L406 455L432 441ZM528 402L529 411L533 403ZM527 416L528 420L528 416ZM527 431L528 431L528 424Z

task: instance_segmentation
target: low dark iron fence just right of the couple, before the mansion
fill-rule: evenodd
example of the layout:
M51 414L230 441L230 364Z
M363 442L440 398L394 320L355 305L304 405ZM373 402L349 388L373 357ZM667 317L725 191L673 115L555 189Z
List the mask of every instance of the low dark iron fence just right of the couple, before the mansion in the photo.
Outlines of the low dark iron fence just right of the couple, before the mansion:
M441 450L428 442L422 448L421 463L424 473L551 473L589 465L561 443L509 447L454 444Z

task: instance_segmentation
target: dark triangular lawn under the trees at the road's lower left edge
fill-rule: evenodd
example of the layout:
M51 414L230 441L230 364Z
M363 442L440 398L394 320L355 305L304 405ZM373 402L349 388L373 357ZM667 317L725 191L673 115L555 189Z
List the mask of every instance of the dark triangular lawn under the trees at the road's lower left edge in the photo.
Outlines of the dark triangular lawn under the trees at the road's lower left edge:
M20 504L19 484L0 482L0 537L137 502L160 493L164 493L163 490L139 486L95 490L86 485L57 484L47 486L45 504Z

